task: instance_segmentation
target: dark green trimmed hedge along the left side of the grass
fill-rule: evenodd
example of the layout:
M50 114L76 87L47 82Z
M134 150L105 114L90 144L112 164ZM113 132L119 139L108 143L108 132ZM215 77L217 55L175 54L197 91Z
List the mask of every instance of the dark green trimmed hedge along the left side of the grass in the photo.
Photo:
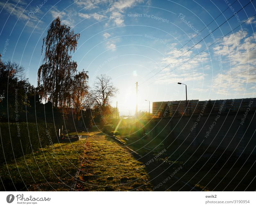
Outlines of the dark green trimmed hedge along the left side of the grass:
M0 135L1 162L58 142L52 123L0 123Z

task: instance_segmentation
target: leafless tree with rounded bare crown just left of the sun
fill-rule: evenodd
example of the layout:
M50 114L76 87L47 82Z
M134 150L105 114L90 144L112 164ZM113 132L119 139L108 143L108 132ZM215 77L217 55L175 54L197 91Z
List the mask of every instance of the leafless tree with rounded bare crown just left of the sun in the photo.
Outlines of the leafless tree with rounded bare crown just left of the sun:
M111 77L100 75L96 77L92 98L98 107L104 108L109 104L109 98L114 97L118 91L111 82Z

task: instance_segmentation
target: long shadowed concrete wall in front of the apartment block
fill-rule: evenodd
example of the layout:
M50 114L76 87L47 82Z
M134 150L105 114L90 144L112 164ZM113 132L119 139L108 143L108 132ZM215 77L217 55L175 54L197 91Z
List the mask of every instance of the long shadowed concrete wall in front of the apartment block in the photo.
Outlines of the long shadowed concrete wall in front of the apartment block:
M150 139L186 141L193 146L227 149L240 155L256 154L255 111L214 113L155 119L124 119L120 126L143 128ZM138 137L140 138L140 137Z

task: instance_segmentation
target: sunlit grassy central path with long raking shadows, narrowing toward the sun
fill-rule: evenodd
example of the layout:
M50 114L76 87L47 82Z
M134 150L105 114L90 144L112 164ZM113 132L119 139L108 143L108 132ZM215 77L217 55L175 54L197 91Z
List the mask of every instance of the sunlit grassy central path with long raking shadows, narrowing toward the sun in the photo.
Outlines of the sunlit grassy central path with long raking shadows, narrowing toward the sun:
M143 163L102 133L88 136L78 191L151 191Z

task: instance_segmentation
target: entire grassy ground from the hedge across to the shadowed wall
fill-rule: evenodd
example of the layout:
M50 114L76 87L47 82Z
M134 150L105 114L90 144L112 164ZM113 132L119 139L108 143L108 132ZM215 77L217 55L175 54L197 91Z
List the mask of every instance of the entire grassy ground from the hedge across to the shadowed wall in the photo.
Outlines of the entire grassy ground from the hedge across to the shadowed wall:
M77 133L70 133L74 134ZM88 135L87 132L78 134ZM133 142L135 139L128 137L128 140L122 141L126 144L131 142L129 147L133 150L138 150L150 141L142 139ZM146 147L153 149L157 144L159 140ZM16 159L17 164L11 162L0 165L1 181L4 183L3 186L0 181L0 190L70 190L70 186L76 183L75 190L78 191L151 191L172 174L172 179L155 190L189 191L193 187L204 191L255 190L253 163L244 162L242 158L237 160L230 153L220 158L219 151L207 151L201 157L204 149L195 151L191 146L186 150L187 146L176 143L165 148L160 145L142 159L136 160L124 147L93 128L87 140L66 140L65 143L54 144L20 157ZM166 151L146 165L162 149ZM138 152L145 155L149 151ZM255 160L255 157L249 160ZM177 171L180 166L182 169ZM81 171L75 182L74 175L78 169Z

